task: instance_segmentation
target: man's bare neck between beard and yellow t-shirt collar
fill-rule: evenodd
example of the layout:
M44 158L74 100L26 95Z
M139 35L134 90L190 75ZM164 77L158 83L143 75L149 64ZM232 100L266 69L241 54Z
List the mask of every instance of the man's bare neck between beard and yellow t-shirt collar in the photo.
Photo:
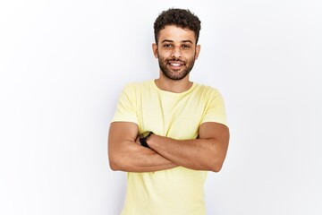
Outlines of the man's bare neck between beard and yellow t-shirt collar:
M171 80L160 72L160 77L156 79L157 88L160 90L171 91L175 93L184 92L191 89L192 82L189 81L189 74L182 80Z

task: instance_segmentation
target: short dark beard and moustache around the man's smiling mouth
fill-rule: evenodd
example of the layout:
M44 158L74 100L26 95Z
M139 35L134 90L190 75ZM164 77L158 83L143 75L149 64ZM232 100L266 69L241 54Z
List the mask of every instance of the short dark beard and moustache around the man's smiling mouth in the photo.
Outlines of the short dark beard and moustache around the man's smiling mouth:
M167 64L169 64L169 61L180 61L183 64L183 68L181 68L180 70L171 69L167 67ZM182 61L181 59L178 59L175 57L168 58L168 59L165 59L164 57L158 57L158 63L159 63L161 72L164 73L168 79L171 79L174 81L179 81L179 80L182 80L184 77L186 77L191 72L194 62L195 62L194 57L187 61Z

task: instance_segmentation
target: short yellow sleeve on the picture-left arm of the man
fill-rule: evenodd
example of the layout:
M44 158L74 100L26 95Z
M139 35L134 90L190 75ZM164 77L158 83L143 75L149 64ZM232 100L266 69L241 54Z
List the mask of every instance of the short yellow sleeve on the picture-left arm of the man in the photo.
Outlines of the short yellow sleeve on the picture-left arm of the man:
M112 122L132 122L139 124L136 110L135 90L131 84L126 85L118 99Z

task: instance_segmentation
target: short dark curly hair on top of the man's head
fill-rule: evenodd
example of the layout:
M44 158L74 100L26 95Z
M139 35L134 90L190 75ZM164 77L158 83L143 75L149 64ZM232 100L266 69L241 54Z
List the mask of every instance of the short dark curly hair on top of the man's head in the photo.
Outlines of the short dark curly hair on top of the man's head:
M198 16L191 13L190 10L179 8L170 8L160 13L154 22L154 33L157 43L160 30L165 29L166 25L176 25L178 27L193 30L196 36L196 44L199 39L199 31L201 29L200 20Z

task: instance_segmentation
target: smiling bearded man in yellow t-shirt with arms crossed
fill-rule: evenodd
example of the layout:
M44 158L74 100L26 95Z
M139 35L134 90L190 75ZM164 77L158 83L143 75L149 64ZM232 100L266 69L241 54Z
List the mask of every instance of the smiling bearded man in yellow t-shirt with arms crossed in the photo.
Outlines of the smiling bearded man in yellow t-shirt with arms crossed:
M228 148L224 101L218 90L189 80L199 18L169 9L154 30L159 77L127 84L110 125L110 167L128 172L122 214L203 215L207 172L222 168Z

